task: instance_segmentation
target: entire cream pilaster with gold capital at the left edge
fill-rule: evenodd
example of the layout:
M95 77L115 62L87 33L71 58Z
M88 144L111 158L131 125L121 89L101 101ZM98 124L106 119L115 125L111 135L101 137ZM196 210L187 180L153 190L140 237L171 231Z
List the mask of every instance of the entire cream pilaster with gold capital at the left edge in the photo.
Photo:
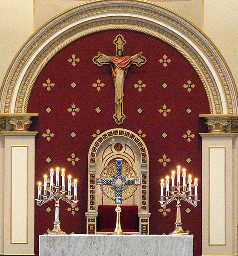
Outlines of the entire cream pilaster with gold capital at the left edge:
M34 157L37 113L0 113L0 254L34 255Z

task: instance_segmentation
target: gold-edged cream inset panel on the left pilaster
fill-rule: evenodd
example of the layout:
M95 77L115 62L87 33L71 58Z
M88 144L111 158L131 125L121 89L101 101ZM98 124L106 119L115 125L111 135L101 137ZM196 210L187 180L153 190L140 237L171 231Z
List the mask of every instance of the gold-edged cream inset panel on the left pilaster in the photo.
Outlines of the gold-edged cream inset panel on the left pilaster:
M11 146L11 244L28 243L28 146Z

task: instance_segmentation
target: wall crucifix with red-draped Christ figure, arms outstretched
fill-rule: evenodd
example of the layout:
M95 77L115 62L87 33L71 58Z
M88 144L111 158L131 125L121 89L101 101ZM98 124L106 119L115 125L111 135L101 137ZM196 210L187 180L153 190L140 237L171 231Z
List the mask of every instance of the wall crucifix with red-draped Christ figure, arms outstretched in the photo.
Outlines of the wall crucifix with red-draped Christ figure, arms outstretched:
M124 40L122 35L117 35L113 44L116 46L115 57L98 52L98 55L95 56L92 61L98 67L104 64L110 64L112 68L112 78L115 85L115 114L113 115L113 119L118 125L121 125L126 118L123 114L123 85L127 70L129 66L133 64L137 67L141 67L141 65L146 63L146 58L141 55L142 52L131 57L124 56L123 48L126 44L126 40Z

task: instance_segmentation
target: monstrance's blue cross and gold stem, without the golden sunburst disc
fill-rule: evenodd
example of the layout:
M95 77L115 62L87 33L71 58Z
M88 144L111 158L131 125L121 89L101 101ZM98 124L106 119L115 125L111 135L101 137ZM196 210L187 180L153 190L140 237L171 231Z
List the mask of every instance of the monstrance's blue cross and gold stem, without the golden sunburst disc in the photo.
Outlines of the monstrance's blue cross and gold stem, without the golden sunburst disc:
M126 175L123 175L122 173L122 159L116 159L115 162L116 165L116 173L113 175L110 179L104 179L104 178L98 178L97 179L97 185L109 185L112 191L115 191L115 204L117 204L117 207L115 211L117 212L117 223L115 231L111 235L126 235L123 233L121 227L120 227L120 204L122 204L123 195L122 191L126 188L126 186L129 185L140 185L141 179L127 179ZM136 186L136 188L137 188ZM102 189L102 186L100 186ZM130 192L130 194L133 194L133 191Z

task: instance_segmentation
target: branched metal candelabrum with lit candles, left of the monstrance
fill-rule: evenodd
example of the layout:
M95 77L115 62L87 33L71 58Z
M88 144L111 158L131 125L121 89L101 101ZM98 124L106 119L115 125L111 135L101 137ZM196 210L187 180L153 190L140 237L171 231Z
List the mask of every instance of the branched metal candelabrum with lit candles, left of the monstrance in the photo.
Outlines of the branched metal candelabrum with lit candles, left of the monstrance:
M63 232L60 229L60 212L59 212L59 201L60 199L62 201L65 201L66 203L70 204L72 207L76 207L77 205L77 180L74 180L74 195L71 195L71 177L69 175L68 178L68 191L65 190L65 185L64 185L64 169L62 169L62 189L60 190L59 186L59 170L58 168L56 169L56 186L53 186L53 169L51 169L50 172L50 177L51 177L51 182L50 182L50 189L47 190L47 176L44 176L44 194L41 195L41 183L38 183L38 197L35 199L37 201L38 206L42 206L43 204L47 203L48 201L51 201L54 199L55 201L55 217L54 217L54 228L48 233L49 235L66 235L65 232ZM53 190L53 187L55 190ZM49 196L47 195L47 191L49 192ZM66 195L66 192L68 195ZM43 200L41 199L43 197ZM72 199L71 199L72 198Z

